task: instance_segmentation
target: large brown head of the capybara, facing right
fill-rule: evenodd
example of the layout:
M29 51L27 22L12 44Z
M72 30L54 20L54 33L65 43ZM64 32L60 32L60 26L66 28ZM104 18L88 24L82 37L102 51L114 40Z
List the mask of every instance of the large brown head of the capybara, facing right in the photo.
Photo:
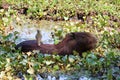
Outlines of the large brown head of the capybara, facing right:
M68 33L62 42L57 45L57 48L61 52L72 54L73 51L80 53L94 49L96 47L97 39L96 37L88 32L72 32Z

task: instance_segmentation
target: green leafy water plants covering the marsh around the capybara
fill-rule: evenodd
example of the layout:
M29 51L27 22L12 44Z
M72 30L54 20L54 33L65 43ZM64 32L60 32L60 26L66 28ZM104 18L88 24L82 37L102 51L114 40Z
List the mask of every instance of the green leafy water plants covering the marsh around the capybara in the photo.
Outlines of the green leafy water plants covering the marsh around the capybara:
M16 20L63 21L54 27L55 44L66 33L86 31L98 38L96 49L77 55L43 55L38 51L15 50ZM22 27L22 26L21 26ZM58 74L59 73L59 74ZM68 80L86 76L91 80L120 79L120 1L119 0L1 0L0 1L0 79L35 79L48 75L70 75Z

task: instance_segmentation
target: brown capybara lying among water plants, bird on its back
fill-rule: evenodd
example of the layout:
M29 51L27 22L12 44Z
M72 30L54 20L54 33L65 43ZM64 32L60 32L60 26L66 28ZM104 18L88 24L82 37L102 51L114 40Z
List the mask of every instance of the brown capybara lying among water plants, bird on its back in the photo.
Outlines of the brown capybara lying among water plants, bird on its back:
M94 35L88 32L73 32L68 33L65 38L58 44L41 44L37 45L36 40L23 41L16 46L16 49L21 47L21 51L28 52L40 50L41 53L57 53L59 55L73 54L77 51L80 55L82 52L94 49L97 39Z

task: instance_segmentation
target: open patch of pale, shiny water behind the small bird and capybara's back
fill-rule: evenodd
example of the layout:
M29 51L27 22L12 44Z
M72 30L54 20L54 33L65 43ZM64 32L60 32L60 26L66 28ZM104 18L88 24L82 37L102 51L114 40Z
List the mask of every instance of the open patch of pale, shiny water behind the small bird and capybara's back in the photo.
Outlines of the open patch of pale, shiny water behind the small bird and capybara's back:
M14 26L14 31L19 32L18 39L16 40L16 44L25 41L25 40L35 40L35 35L37 30L41 31L42 34L42 42L44 44L53 44L54 41L51 36L51 32L54 32L54 28L60 28L61 22L53 22L53 21L17 21L12 22L12 26Z

